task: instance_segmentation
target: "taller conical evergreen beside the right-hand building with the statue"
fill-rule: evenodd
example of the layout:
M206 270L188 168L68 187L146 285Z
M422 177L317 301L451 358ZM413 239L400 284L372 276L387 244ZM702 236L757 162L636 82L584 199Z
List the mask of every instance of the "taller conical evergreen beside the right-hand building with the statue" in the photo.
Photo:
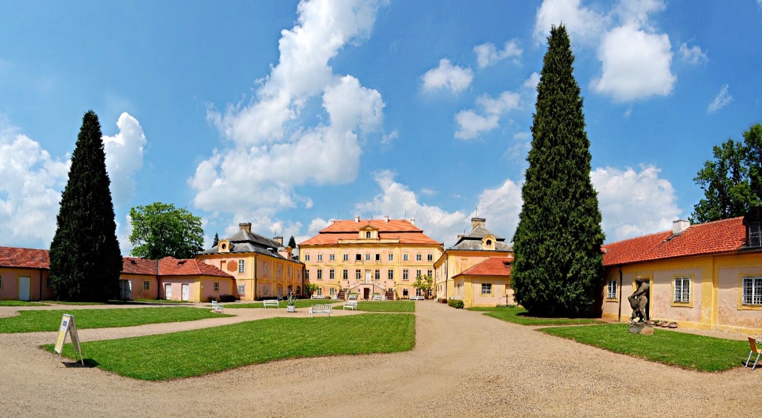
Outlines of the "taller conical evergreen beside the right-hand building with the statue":
M566 28L552 27L537 85L511 270L517 302L539 316L587 314L604 272L604 233L573 62Z

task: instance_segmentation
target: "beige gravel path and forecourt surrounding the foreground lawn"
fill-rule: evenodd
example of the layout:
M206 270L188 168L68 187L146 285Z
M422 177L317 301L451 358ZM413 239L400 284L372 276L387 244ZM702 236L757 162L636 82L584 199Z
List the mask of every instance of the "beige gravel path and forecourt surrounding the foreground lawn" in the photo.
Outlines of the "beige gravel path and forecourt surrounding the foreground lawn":
M9 309L0 308L0 316ZM64 367L37 349L56 333L0 334L0 416L757 416L762 410L762 369L690 372L431 301L416 302L416 311L416 346L406 353L285 360L162 382ZM100 340L285 314L228 312L239 316L79 330L79 336Z

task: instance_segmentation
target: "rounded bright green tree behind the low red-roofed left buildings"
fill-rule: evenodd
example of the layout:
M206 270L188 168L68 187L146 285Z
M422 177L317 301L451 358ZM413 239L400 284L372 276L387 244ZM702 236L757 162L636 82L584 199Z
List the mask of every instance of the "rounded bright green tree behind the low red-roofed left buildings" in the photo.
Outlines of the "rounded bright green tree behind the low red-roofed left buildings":
M135 257L191 258L203 251L201 219L185 208L161 202L130 209L133 233L130 242Z

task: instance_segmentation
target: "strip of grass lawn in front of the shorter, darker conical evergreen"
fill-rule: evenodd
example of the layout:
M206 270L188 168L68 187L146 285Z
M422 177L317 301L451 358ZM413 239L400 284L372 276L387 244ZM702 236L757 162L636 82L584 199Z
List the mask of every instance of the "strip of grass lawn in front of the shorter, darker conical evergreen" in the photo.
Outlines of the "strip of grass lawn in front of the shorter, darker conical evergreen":
M131 327L142 324L195 321L207 317L231 316L215 314L207 311L207 309L189 307L21 311L18 316L0 318L0 333L55 331L61 324L62 314L73 314L75 324L79 329Z

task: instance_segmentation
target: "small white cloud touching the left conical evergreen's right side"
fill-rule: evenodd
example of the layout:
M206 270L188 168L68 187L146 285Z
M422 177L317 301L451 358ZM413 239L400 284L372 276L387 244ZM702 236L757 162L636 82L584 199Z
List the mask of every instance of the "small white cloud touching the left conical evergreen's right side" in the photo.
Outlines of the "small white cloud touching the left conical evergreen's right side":
M142 168L143 149L146 136L140 123L130 113L122 113L117 120L119 132L115 136L104 136L106 169L111 180L111 196L114 205L129 203L135 194L133 173Z

